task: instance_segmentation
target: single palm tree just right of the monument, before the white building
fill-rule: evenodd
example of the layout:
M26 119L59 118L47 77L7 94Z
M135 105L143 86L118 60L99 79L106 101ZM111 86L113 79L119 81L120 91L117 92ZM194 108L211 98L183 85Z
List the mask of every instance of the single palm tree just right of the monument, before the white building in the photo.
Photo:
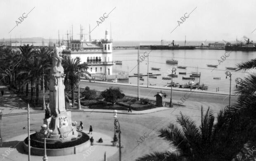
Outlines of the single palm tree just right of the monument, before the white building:
M81 72L85 73L85 77L88 79L86 75L90 75L90 73L87 71L88 66L86 63L80 64L80 58L71 58L69 56L63 57L63 67L64 67L64 73L66 74L65 77L65 84L69 84L71 86L72 91L72 106L75 105L75 90L76 83L78 82L78 69L82 69ZM85 70L83 70L85 69Z

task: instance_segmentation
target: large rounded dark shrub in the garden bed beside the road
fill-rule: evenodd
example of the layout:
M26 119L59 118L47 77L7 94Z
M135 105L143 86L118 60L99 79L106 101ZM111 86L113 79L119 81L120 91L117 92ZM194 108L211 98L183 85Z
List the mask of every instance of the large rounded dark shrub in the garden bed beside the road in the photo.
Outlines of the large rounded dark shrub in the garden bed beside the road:
M106 101L111 102L113 105L117 99L123 98L125 94L121 93L119 88L109 87L101 93L101 96L105 98Z

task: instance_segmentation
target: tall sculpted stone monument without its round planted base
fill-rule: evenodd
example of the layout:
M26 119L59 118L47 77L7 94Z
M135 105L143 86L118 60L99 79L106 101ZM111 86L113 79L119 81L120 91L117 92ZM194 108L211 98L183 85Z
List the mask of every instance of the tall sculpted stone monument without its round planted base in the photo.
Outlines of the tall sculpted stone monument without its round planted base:
M59 56L59 49L54 49L52 67L50 69L50 117L44 119L44 124L52 130L51 138L67 138L75 135L76 127L72 128L71 112L65 108L64 69Z

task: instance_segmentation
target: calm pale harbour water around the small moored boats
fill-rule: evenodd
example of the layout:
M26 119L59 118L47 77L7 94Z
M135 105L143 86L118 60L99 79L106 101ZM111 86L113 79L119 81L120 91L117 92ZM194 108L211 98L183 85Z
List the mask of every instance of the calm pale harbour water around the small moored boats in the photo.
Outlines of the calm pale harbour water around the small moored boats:
M140 55L143 55L145 51L149 52L150 50L140 50ZM178 60L178 65L185 65L187 69L177 68L176 74L178 77L173 78L173 82L180 84L188 83L190 80L182 79L183 76L189 77L191 72L201 72L200 84L204 83L208 85L208 91L216 91L216 88L219 88L219 91L228 92L230 80L226 79L225 67L236 67L235 65L237 63L242 63L256 57L255 51L229 51L229 53L230 56L219 64L218 60L222 61L220 57L224 56L225 50L153 50L149 54L149 72L161 75L157 76L157 79L149 78L149 84L165 86L168 82L171 82L171 80L163 80L162 76L164 73L170 74L168 69L170 69L172 65L166 64L166 60L175 58ZM137 73L136 60L137 50L113 50L113 61L123 61L122 65L113 66L113 74L125 71L129 72L129 75L134 75L134 73ZM219 65L214 69L208 67L206 64ZM177 64L175 66L177 66ZM161 68L161 70L151 70L152 67ZM235 78L244 78L245 72L229 71L232 73L231 86L233 90L236 85ZM178 72L187 72L187 75L179 75ZM140 63L140 73L147 73L147 58ZM221 79L213 79L213 77L221 77ZM144 81L140 80L140 83L147 84L147 77L144 77L144 79ZM129 80L119 82L137 84L137 77L129 77ZM199 82L199 78L196 78L195 82Z

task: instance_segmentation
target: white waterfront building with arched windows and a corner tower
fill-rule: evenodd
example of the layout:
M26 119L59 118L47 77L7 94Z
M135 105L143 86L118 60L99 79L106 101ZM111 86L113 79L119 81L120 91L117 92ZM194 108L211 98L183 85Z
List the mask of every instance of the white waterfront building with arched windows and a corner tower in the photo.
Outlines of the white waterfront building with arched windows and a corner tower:
M106 30L105 38L101 40L71 40L69 49L62 54L71 58L80 58L81 63L88 64L88 72L92 77L113 79L112 66L112 40Z

